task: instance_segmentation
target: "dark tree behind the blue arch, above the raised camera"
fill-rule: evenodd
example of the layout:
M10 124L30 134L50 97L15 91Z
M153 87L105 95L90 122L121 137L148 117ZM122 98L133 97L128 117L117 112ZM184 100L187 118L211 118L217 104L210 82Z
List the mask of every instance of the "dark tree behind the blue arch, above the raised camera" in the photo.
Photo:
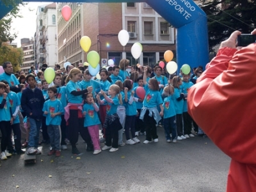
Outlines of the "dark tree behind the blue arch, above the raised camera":
M256 24L256 0L204 0L210 49L236 30L251 33Z

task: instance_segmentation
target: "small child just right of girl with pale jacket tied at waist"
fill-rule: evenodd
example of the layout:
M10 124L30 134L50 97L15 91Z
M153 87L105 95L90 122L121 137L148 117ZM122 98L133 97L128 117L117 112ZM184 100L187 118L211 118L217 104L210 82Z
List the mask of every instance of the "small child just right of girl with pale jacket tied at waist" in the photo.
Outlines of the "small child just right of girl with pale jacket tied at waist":
M164 87L164 135L166 138L166 142L176 143L176 112L174 107L174 87L172 85L168 85ZM172 140L170 137L170 133L172 133Z

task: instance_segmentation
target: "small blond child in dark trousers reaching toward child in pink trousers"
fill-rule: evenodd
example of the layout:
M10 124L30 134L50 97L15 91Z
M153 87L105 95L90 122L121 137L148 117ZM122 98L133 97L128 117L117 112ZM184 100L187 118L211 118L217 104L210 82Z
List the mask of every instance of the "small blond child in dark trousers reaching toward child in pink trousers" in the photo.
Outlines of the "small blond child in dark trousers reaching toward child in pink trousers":
M103 90L100 91L103 100L100 100L99 94L97 100L99 104L107 103L106 105L106 119L104 122L104 128L106 129L106 145L102 147L102 150L110 149L109 152L115 152L118 150L118 130L122 129L119 117L116 114L118 105L122 104L122 95L120 94L120 87L118 85L111 85L108 90L109 96Z

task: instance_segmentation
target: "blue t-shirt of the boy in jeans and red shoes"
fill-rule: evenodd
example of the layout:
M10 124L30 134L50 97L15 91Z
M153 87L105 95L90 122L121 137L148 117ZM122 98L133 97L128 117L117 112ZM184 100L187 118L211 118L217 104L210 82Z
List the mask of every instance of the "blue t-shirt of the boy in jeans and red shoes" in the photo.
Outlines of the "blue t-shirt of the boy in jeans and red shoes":
M60 125L61 124L61 115L56 115L55 117L51 117L51 114L56 114L58 112L63 113L64 109L62 107L60 100L47 100L44 103L43 112L47 111L46 115L46 125Z

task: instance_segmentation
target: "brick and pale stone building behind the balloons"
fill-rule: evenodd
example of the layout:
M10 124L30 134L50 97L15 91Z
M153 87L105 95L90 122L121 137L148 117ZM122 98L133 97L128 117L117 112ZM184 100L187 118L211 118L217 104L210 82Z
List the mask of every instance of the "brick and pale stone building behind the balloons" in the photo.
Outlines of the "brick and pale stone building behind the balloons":
M61 17L65 5L72 9L66 22ZM130 40L125 47L118 41L118 33L125 29ZM118 64L122 58L130 64L149 64L164 58L166 50L175 52L175 29L147 3L58 3L58 63L77 64L86 61L86 53L79 45L81 36L92 40L90 50L100 55L101 66L108 59ZM143 52L138 60L131 54L134 43L140 42Z

